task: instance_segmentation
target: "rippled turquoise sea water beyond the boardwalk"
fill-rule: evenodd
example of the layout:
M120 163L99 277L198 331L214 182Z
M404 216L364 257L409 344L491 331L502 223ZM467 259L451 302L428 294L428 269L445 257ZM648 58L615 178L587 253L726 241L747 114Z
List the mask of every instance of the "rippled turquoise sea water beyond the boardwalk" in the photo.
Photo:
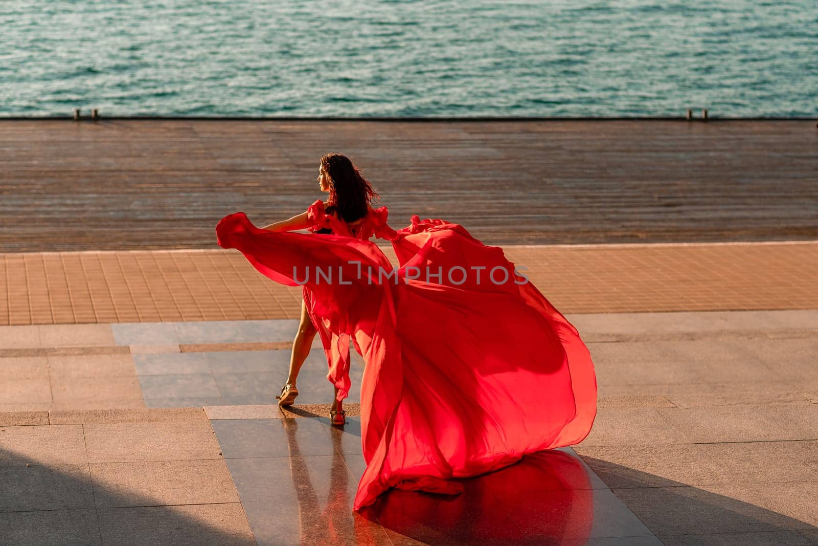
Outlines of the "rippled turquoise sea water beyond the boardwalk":
M0 115L818 115L818 0L6 0Z

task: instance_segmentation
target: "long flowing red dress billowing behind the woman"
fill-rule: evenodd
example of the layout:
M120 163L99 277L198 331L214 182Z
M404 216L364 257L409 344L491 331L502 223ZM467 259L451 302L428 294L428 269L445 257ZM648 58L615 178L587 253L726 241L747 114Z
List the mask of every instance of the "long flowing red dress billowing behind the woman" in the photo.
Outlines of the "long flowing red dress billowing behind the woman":
M367 466L356 510L390 487L456 493L452 478L577 444L591 431L591 355L501 248L416 215L396 232L386 207L354 234L321 201L308 218L333 234L270 232L244 213L224 217L216 232L220 246L240 250L268 278L303 284L339 399L349 388L350 339L362 354ZM371 235L392 242L397 268Z

